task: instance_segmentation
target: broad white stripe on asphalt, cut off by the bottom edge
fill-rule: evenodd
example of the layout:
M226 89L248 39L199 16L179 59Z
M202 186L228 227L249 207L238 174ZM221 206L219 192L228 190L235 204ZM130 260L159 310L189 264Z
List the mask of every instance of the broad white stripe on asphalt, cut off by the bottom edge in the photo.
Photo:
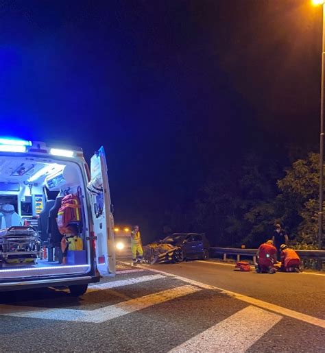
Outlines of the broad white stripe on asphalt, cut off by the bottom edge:
M243 353L267 331L278 324L282 316L256 306L247 306L215 326L173 348L169 353L236 352ZM262 324L259 324L263 322Z

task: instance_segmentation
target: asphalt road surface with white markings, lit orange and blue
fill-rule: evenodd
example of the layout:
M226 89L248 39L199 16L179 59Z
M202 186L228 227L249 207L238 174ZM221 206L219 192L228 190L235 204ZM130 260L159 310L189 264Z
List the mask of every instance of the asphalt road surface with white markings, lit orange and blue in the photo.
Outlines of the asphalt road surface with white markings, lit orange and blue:
M324 276L232 269L120 266L79 299L1 294L0 352L325 352Z

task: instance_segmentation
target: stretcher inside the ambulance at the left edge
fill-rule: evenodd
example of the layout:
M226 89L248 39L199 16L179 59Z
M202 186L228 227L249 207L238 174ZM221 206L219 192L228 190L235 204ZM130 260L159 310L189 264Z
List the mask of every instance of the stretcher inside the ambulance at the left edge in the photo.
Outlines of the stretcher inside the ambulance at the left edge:
M37 264L40 254L40 238L34 228L15 226L0 230L0 266Z

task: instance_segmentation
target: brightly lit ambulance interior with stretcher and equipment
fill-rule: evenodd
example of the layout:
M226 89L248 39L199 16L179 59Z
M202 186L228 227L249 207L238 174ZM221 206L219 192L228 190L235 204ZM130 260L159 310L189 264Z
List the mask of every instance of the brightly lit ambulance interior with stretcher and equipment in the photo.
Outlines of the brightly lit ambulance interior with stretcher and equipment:
M21 277L21 271L24 276L88 271L85 193L75 162L0 156L0 279ZM64 247L57 223L62 199L71 194L79 200L79 218L71 222L78 249Z

